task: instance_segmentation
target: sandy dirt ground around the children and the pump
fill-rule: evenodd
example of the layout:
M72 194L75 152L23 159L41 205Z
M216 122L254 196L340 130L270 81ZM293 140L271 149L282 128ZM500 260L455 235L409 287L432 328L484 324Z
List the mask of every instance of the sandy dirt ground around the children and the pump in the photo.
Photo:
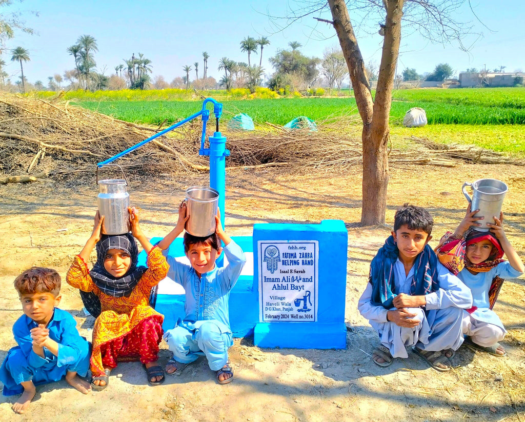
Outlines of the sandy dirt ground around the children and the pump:
M410 354L387 368L370 360L375 332L356 309L370 260L390 234L396 207L427 207L435 218L434 240L464 216L465 181L497 178L509 185L505 199L507 234L525 258L525 177L523 167L458 165L455 168L391 168L385 226L361 227L361 172L238 170L227 175L226 230L250 235L254 223L319 223L342 219L348 227L345 350L260 349L236 339L230 349L234 382L218 385L201 359L158 387L146 383L139 363L122 363L103 392L83 396L64 381L37 387L25 415L0 398L2 420L177 420L177 421L502 421L525 420L525 282L507 280L495 310L508 329L508 356L492 357L461 347L448 373L438 373ZM142 209L143 229L163 236L176 222L187 186L206 184L207 175L161 174L157 180L131 178L132 204ZM12 325L20 316L13 289L16 275L32 266L66 271L89 234L96 211L93 183L0 185L0 359L15 345ZM62 230L67 229L67 230ZM64 283L65 284L65 283ZM61 307L90 339L93 318L81 312L77 291L62 287ZM166 344L160 360L169 358Z

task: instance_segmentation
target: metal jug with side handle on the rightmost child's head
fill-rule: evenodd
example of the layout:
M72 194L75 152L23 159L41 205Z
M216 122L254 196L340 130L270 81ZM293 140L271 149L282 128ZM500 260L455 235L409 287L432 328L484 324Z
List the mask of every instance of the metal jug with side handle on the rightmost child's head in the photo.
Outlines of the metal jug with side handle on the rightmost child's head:
M467 186L472 189L472 198L467 194ZM472 204L470 209L472 211L479 209L474 217L484 217L484 219L478 220L481 226L476 227L476 230L489 231L490 227L487 226L487 223L494 223L492 217L499 218L503 198L508 191L507 185L496 179L480 179L474 183L465 182L461 191L463 191L467 201Z

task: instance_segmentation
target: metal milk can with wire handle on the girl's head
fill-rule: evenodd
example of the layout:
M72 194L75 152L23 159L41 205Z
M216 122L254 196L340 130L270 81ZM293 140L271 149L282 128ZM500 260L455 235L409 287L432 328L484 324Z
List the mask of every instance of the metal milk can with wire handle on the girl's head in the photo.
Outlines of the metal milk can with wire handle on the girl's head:
M117 164L105 164L104 166L114 166L120 168L123 179L98 180L97 185L100 192L97 196L99 215L104 216L102 223L103 235L123 235L131 230L128 207L130 206L130 195L126 189L128 180ZM102 167L102 166L100 166Z

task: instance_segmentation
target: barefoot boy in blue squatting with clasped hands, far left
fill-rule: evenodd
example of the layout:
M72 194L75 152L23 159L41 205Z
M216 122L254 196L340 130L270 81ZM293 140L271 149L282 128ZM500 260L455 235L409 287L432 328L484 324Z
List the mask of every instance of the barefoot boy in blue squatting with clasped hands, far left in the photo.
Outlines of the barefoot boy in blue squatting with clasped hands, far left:
M13 325L18 346L7 352L0 367L3 393L20 394L12 408L25 413L36 385L60 381L83 394L90 390L81 379L89 368L89 343L80 336L76 321L56 306L60 302L60 275L49 268L33 267L15 279L24 315Z

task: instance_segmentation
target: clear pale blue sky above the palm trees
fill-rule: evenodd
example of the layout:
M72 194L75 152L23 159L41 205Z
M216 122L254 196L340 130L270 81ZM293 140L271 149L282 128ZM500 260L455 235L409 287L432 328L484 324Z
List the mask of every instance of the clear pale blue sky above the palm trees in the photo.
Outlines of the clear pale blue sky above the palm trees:
M290 41L302 44L301 52L307 56L322 57L327 47L338 46L333 28L326 24L316 25L312 17L299 19L282 31L267 16L285 16L287 8L301 8L312 1L302 3L283 0L25 0L3 7L0 13L14 10L22 12L26 26L38 35L17 33L9 40L8 48L22 46L29 51L31 61L24 64L24 74L30 82L41 80L47 84L47 77L73 69L74 60L66 49L75 44L84 34L96 38L99 51L95 54L97 69L106 75L114 73L114 67L122 64L133 53L143 53L152 60L153 77L162 75L167 82L183 76L182 67L199 62L199 77L202 75L202 52L207 51L208 76L219 79L222 72L217 70L222 57L247 62L247 56L240 51L239 43L246 36L266 36L270 45L263 51L262 66L267 75L273 72L268 58L278 49L288 48ZM456 71L469 67L487 69L506 66L505 71L525 70L525 36L522 19L525 16L525 2L507 0L498 2L473 0L472 6L481 25L467 7L463 20L471 21L475 29L483 34L467 54L457 45L432 44L408 27L403 33L398 72L409 67L417 72L430 72L442 62ZM30 11L38 12L38 17ZM328 9L327 9L328 11ZM328 12L329 13L329 12ZM351 18L352 18L351 14ZM329 19L325 13L322 17ZM355 23L358 19L355 19ZM358 41L365 62L374 60L379 64L382 37L375 26L379 19L367 21L371 28L360 27ZM379 26L377 26L379 29ZM465 40L470 45L474 38ZM9 51L2 59L5 70L16 80L19 77L18 62L10 61ZM251 62L259 62L259 55L251 55ZM195 72L190 73L192 78Z

